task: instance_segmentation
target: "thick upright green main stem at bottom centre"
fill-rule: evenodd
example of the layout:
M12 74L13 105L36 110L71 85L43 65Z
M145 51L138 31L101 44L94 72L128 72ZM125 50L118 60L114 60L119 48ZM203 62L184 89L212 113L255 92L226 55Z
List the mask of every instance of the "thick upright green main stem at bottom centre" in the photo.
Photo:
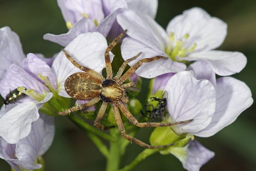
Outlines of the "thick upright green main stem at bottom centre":
M115 140L110 142L106 171L117 171L120 164L120 133L118 129L111 129L110 134Z

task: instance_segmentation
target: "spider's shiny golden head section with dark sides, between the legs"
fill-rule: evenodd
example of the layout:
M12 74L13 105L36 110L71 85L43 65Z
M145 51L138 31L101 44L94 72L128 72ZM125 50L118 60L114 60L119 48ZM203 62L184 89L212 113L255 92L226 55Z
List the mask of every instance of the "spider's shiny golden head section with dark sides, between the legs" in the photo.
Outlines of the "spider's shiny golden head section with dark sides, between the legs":
M102 101L107 103L113 103L121 99L124 95L124 89L120 85L112 80L106 79L102 81L102 91L100 93L100 98Z

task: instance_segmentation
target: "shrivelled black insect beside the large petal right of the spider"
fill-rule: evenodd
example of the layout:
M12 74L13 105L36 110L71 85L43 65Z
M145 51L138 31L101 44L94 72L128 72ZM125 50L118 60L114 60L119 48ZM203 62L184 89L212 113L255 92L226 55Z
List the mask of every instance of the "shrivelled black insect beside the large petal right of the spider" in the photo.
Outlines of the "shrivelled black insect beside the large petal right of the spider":
M156 107L153 107L151 104L146 105L144 110L141 110L141 114L151 121L161 121L165 116L165 111L167 108L167 91L163 93L163 98L151 97L151 101L158 101Z

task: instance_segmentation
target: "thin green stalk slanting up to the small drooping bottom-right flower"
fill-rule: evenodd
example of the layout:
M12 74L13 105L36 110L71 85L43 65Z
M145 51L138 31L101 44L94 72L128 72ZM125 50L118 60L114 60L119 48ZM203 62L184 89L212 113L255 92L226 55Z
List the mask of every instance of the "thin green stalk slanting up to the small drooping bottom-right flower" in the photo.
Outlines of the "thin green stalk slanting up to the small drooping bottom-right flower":
M126 165L124 168L118 171L130 171L135 166L137 166L140 162L145 160L148 156L160 151L160 149L145 149L143 150L129 165Z

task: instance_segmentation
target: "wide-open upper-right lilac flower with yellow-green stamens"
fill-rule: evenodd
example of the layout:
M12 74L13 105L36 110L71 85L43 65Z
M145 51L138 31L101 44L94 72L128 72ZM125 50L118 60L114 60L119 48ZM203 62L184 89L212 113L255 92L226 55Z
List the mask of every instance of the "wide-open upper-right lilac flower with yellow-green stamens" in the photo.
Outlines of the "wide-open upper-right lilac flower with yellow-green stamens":
M169 22L166 31L151 17L138 16L132 10L118 14L117 21L130 36L121 46L124 59L139 52L142 55L137 60L156 55L169 57L143 64L136 73L145 78L185 70L183 61L204 60L220 76L239 73L247 62L240 52L213 50L224 41L227 24L201 8L184 11Z

